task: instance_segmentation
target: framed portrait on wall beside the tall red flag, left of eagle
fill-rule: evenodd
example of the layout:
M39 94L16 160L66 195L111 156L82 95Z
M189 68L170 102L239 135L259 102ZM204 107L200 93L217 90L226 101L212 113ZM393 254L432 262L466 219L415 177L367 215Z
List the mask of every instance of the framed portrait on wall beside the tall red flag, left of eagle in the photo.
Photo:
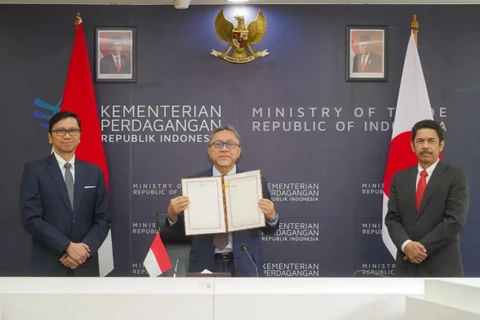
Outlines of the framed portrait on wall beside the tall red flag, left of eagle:
M136 82L135 27L95 27L95 82Z

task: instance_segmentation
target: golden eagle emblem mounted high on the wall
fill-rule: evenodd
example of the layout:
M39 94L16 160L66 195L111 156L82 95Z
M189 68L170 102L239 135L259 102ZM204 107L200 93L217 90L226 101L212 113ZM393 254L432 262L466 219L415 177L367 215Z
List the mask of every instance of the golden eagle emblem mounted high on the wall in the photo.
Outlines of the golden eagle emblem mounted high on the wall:
M252 44L260 42L267 32L267 19L262 10L258 11L257 18L246 27L243 15L236 15L234 18L237 20L236 27L225 18L223 9L218 13L215 19L217 36L223 41L229 42L229 45L225 52L212 50L211 54L232 63L248 63L269 54L266 49L254 52L251 46ZM232 55L229 56L232 49ZM250 55L248 55L247 49Z

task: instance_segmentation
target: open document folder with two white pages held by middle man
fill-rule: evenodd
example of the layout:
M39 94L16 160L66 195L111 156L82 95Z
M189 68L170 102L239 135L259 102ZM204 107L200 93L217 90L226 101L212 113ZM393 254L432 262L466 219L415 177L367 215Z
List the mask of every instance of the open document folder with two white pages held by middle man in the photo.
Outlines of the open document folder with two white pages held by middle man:
M258 206L262 198L260 170L182 179L182 191L190 200L184 211L186 235L265 226L265 216Z

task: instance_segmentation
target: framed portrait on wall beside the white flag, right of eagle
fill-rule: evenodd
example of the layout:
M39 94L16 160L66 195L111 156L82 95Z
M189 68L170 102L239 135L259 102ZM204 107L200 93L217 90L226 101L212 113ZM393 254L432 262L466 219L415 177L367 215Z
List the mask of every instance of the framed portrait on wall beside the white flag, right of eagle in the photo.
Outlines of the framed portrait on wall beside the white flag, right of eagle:
M388 27L347 26L346 81L388 81Z

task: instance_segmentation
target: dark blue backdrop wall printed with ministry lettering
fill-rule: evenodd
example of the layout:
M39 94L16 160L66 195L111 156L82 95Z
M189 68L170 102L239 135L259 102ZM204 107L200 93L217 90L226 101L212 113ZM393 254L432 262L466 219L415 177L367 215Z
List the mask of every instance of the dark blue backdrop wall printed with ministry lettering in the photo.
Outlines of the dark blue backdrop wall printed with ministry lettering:
M103 134L120 137L105 143L113 276L143 273L155 213L181 193L183 176L209 166L207 137L220 124L239 129L239 165L262 170L281 215L279 232L264 238L267 276L351 276L358 269L392 275L394 261L381 240L381 192L412 14L420 21L419 52L435 119L447 130L444 159L470 175L461 245L466 275L479 276L480 7L247 6L247 23L264 11L267 34L254 48L270 52L247 65L210 55L227 46L213 26L221 8L0 6L0 276L28 274L19 181L24 162L50 151L46 120L33 112L44 112L39 100L56 105L61 99L77 11L91 62L94 26L137 28L137 82L95 85ZM233 20L235 7L223 8ZM349 24L388 25L388 82L345 82ZM145 106L161 112L142 113ZM207 112L178 112L184 106ZM115 126L121 120L159 125L134 131ZM274 130L274 123L280 127ZM126 142L145 135L154 141Z

